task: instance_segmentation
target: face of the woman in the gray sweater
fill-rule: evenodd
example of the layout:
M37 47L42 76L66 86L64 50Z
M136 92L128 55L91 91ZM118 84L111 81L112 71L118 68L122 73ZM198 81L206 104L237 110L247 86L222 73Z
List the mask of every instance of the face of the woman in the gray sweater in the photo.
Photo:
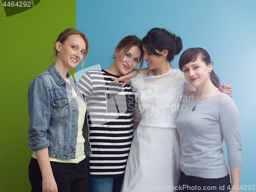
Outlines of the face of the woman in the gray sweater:
M210 81L210 72L212 70L211 63L206 65L198 55L195 61L187 63L183 67L184 75L191 86L197 88Z

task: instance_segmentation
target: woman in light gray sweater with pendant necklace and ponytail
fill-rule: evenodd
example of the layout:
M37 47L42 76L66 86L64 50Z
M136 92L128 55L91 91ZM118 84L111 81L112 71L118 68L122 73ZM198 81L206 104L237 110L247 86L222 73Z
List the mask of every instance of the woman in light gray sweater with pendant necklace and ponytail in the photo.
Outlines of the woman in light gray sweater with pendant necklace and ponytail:
M196 91L183 96L176 120L181 144L177 191L239 191L242 143L237 105L218 91L220 79L206 50L187 49L180 57L179 68Z

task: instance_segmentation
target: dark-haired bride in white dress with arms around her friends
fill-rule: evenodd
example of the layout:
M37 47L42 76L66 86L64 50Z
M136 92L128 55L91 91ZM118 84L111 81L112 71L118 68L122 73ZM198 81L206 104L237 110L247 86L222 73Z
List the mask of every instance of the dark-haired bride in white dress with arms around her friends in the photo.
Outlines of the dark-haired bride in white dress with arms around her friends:
M127 160L121 192L175 191L180 175L180 141L175 121L182 96L195 89L183 72L170 67L170 61L182 49L180 37L165 29L154 28L142 39L147 75L138 73L131 79L139 106L134 110L134 136ZM141 70L140 70L141 71ZM132 74L132 75L131 75ZM129 81L122 76L113 82ZM230 86L221 87L231 92ZM136 123L136 122L139 123ZM138 125L139 124L139 125Z

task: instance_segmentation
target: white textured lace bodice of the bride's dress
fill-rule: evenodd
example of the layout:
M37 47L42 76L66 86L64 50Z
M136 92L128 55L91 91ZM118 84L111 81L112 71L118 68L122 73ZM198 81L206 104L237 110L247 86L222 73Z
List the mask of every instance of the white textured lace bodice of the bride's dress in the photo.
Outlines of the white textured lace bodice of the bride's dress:
M140 125L176 128L182 96L194 91L183 72L172 69L157 76L152 72L148 75L139 73L131 80L139 106Z

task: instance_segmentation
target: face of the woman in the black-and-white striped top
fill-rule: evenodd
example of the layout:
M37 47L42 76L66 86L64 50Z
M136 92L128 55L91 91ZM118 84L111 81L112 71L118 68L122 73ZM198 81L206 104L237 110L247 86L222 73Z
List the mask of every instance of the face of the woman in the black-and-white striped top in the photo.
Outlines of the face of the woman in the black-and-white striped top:
M141 51L137 46L131 47L131 49L122 55L124 49L115 50L116 58L114 63L118 70L118 76L122 76L123 74L127 74L132 71L138 65L141 56Z

